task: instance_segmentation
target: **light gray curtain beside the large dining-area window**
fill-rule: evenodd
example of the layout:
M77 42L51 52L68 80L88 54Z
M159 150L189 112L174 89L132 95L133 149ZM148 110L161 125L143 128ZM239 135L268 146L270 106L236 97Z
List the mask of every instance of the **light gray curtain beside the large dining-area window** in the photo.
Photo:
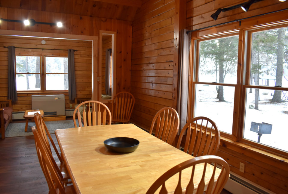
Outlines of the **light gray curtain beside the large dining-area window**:
M187 122L188 108L188 85L189 85L189 53L191 43L191 32L182 29L179 39L179 71L178 71L178 101L177 112L180 117L180 131Z

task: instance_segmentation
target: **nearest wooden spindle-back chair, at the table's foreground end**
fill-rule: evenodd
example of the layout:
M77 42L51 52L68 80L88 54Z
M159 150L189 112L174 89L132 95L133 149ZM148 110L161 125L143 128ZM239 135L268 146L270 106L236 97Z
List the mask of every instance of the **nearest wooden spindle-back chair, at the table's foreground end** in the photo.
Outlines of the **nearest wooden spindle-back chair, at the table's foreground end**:
M210 163L214 163L213 173L211 177L207 178L208 175L206 174L206 169L207 169L207 165L210 165ZM200 166L197 164L203 164L204 167L203 167L203 173L202 173L202 177L200 178L200 181L194 182L193 178L194 178L195 169L200 168ZM216 172L216 168L217 168L216 166L219 166L222 168L220 173ZM189 167L192 167L191 172L189 170L189 173L191 173L190 181L187 181L188 182L187 186L186 185L182 186L181 185L182 171ZM229 172L230 172L229 165L221 157L209 156L209 155L195 157L193 159L182 162L174 166L167 172L165 172L161 177L159 177L151 185L151 187L146 192L146 194L155 193L160 187L161 189L160 189L159 194L167 194L168 192L166 189L165 182L169 178L171 178L173 175L176 175L177 173L179 173L179 179L178 179L179 181L175 188L174 194L195 193L195 190L196 190L196 194L203 194L204 191L205 191L205 194L219 194L222 191L223 187L225 186L229 178ZM194 184L198 184L198 186L195 188ZM183 188L185 189L183 190Z

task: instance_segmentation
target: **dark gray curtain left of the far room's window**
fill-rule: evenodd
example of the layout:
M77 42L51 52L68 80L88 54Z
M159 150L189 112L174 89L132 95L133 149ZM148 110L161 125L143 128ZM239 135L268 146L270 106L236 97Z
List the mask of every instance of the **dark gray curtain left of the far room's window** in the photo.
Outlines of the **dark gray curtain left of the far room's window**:
M8 99L17 101L16 74L15 74L15 47L8 46Z

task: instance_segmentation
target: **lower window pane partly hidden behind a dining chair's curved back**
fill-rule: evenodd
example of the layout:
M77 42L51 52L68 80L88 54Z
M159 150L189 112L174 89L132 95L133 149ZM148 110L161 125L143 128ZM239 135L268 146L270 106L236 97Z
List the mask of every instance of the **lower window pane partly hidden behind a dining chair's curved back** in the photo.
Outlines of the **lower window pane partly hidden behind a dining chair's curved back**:
M206 116L220 131L232 134L234 91L235 87L196 84L195 117ZM219 101L219 96L224 101Z

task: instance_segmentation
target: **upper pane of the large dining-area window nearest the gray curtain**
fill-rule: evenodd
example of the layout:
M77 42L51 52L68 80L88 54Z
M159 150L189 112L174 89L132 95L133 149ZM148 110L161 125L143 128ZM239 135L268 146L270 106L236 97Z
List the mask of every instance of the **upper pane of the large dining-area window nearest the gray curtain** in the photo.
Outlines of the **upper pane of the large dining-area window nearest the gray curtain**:
M238 36L200 42L199 81L236 84Z

